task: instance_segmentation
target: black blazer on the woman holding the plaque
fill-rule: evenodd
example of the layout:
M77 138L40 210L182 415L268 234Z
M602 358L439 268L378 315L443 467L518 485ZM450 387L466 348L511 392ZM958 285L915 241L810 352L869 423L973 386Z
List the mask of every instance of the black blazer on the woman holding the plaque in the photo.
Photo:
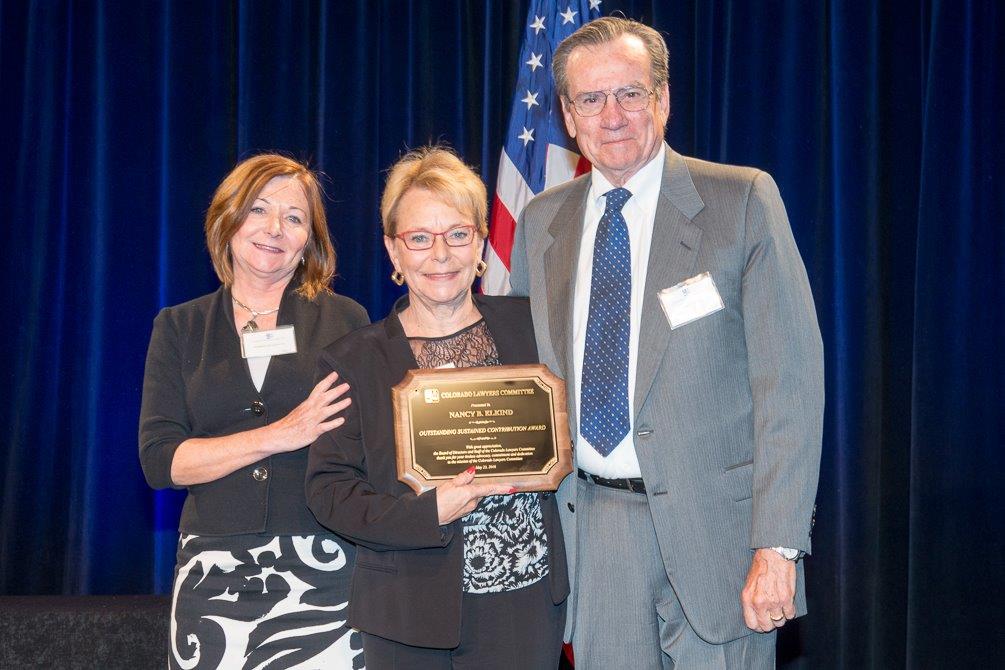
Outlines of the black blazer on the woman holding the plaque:
M526 298L475 295L502 364L537 363ZM311 447L308 504L322 523L359 545L349 623L366 633L418 647L460 642L463 530L440 527L435 491L416 495L398 481L391 387L418 368L397 312L342 339L322 354L319 376L336 370L350 384L346 423ZM541 495L548 535L549 586L558 604L569 595L558 507ZM533 613L528 613L533 616Z

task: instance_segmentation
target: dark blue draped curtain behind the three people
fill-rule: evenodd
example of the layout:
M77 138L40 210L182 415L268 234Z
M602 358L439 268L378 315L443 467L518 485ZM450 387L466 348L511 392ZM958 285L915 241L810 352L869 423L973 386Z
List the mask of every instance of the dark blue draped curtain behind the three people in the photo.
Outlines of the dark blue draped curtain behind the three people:
M788 667L1003 654L1005 9L616 2L665 32L680 152L771 172L827 363ZM170 588L180 498L137 462L157 310L216 285L222 176L329 178L336 288L388 309L383 170L430 140L494 184L526 2L2 2L0 594Z

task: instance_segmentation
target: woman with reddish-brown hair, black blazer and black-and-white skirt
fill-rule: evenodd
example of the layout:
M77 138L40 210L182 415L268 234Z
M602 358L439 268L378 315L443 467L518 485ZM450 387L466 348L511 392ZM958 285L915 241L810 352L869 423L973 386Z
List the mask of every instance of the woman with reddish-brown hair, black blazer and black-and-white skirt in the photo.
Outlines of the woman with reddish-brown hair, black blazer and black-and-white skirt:
M315 384L318 355L369 320L329 289L317 178L282 156L244 161L213 196L206 244L222 285L158 314L140 418L147 481L188 489L170 667L359 668L355 550L304 497L304 447L349 403L335 375Z

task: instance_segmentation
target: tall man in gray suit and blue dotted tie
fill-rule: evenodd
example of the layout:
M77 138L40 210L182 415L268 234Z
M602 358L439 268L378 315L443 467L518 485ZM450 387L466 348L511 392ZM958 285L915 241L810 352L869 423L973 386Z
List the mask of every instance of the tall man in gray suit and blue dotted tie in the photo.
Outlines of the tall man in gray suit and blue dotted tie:
M569 390L579 670L773 667L775 630L805 612L823 415L806 270L770 176L663 143L667 70L626 19L559 46L593 170L528 204L512 256Z

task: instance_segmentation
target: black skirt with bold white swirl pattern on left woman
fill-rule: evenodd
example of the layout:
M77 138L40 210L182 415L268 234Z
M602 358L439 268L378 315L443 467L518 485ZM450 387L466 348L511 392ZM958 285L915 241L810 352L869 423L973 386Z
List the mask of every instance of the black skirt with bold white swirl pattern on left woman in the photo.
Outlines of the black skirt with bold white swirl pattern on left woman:
M333 534L182 534L170 667L363 668L346 616L355 547Z

